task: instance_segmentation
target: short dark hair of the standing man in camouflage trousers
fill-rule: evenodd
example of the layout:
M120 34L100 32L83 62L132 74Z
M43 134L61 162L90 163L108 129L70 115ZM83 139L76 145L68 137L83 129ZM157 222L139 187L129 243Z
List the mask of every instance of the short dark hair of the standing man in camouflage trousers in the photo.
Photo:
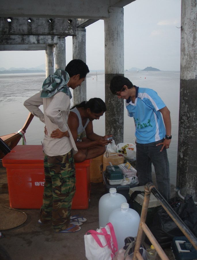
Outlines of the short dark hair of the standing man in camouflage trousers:
M74 75L80 74L79 79L85 78L87 73L90 72L88 66L86 65L85 62L82 60L71 60L65 70L69 74L69 77L73 77Z

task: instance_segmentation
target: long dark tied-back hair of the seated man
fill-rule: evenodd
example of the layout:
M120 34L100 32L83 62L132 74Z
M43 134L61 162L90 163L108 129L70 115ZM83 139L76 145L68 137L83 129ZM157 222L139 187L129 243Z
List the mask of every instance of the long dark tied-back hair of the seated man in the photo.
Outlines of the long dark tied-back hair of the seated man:
M100 98L92 98L89 99L89 101L83 101L82 103L71 107L71 109L74 107L89 108L92 113L102 113L107 110L105 102Z

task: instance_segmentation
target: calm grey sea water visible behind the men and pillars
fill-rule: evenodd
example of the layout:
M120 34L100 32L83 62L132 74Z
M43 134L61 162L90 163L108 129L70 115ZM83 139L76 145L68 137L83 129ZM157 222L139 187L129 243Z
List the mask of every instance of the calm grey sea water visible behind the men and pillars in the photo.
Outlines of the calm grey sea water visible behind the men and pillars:
M176 184L177 146L179 122L179 71L125 71L124 76L138 87L154 89L171 112L172 140L168 149L171 183ZM87 100L99 97L105 101L104 72L90 72L86 78ZM17 132L24 125L29 114L23 103L39 92L45 80L45 73L0 74L0 136ZM72 90L71 90L72 92ZM71 105L72 105L71 99ZM42 107L41 107L42 109ZM105 135L105 114L93 121L94 131ZM109 134L109 133L106 133ZM113 134L113 133L112 133ZM33 118L25 138L27 144L41 144L44 124ZM135 143L135 124L124 109L124 142ZM22 144L22 140L19 142Z

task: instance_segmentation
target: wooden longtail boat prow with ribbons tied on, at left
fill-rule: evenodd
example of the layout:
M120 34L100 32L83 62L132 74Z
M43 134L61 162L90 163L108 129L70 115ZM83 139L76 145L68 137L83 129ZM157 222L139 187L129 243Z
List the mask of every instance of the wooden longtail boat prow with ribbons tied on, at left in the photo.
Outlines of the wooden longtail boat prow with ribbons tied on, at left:
M12 150L12 148L14 148L18 144L18 142L20 141L21 138L23 138L23 141L25 143L24 133L26 133L27 127L31 123L31 120L33 119L33 117L34 117L34 115L29 113L29 116L28 116L26 122L24 123L24 126L18 132L0 136L0 139L1 139L0 159L2 159L5 156L5 151L8 152L9 149ZM5 144L4 148L2 147L3 143Z

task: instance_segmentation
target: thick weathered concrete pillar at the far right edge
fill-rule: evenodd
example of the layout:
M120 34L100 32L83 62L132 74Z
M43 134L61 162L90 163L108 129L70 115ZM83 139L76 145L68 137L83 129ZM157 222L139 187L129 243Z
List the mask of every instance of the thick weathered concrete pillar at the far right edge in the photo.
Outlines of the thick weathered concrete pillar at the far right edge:
M181 69L177 186L197 201L196 1L181 1Z

